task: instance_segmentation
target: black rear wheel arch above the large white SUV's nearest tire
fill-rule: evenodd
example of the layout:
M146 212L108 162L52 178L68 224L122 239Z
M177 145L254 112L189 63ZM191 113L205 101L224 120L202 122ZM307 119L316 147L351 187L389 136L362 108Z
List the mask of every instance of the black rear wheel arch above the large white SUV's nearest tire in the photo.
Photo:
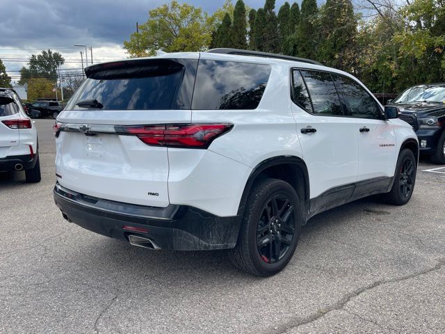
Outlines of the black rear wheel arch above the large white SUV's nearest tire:
M261 161L250 173L241 196L238 215L244 213L245 203L254 184L267 177L291 184L302 205L307 206L307 202L309 202L309 173L305 161L295 156L272 157Z

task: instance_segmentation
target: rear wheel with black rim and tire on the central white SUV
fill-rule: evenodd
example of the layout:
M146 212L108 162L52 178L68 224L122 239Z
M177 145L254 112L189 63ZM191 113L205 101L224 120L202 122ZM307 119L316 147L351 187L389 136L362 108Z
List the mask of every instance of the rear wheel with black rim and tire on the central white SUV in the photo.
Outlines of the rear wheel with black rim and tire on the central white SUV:
M296 250L301 221L300 200L293 187L282 180L261 180L248 196L230 260L254 276L275 275L286 267Z

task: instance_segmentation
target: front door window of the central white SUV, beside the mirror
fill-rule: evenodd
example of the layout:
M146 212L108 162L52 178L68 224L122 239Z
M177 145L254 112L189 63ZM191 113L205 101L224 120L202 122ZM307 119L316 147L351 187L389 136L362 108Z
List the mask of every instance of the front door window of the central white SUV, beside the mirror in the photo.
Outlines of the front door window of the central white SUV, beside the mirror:
M346 104L346 115L356 118L380 119L380 108L366 90L353 79L333 74L339 95Z

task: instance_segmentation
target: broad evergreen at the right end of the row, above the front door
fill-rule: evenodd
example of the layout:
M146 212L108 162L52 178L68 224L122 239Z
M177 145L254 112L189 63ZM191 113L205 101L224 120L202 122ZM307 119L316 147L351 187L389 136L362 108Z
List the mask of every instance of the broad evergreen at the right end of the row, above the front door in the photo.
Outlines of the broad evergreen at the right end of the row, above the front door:
M325 65L350 70L350 54L357 37L357 19L350 0L327 0L321 11L318 60Z

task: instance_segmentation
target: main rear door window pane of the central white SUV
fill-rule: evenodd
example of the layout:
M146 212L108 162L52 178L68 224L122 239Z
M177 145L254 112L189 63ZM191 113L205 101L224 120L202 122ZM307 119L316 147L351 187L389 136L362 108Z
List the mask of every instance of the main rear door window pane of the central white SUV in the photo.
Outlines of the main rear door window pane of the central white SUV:
M343 109L331 74L319 71L301 71L301 73L309 90L314 113L343 116Z

